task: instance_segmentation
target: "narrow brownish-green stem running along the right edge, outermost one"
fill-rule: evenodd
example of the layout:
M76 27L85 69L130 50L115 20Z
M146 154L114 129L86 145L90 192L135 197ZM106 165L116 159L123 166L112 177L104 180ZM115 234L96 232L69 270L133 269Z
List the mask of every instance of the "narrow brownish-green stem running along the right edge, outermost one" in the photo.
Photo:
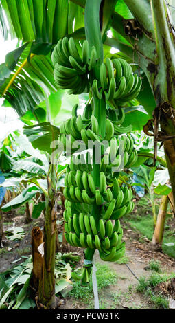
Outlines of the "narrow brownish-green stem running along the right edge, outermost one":
M165 135L175 135L175 46L170 25L167 23L168 13L165 1L152 0L152 12L159 65L152 88L156 103L159 104L161 131ZM175 140L165 140L163 144L175 201Z

